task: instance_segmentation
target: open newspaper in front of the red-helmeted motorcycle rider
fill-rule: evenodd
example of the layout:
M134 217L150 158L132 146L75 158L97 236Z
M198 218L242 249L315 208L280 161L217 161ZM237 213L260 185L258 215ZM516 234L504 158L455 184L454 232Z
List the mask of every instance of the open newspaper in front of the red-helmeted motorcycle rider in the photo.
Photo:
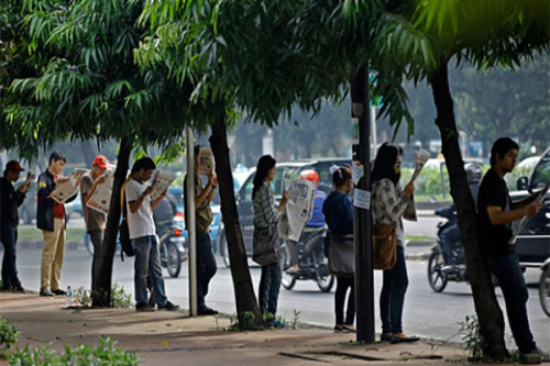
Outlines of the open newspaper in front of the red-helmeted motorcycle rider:
M306 179L293 180L288 187L288 196L278 223L278 233L283 239L297 242L314 213L314 184Z

